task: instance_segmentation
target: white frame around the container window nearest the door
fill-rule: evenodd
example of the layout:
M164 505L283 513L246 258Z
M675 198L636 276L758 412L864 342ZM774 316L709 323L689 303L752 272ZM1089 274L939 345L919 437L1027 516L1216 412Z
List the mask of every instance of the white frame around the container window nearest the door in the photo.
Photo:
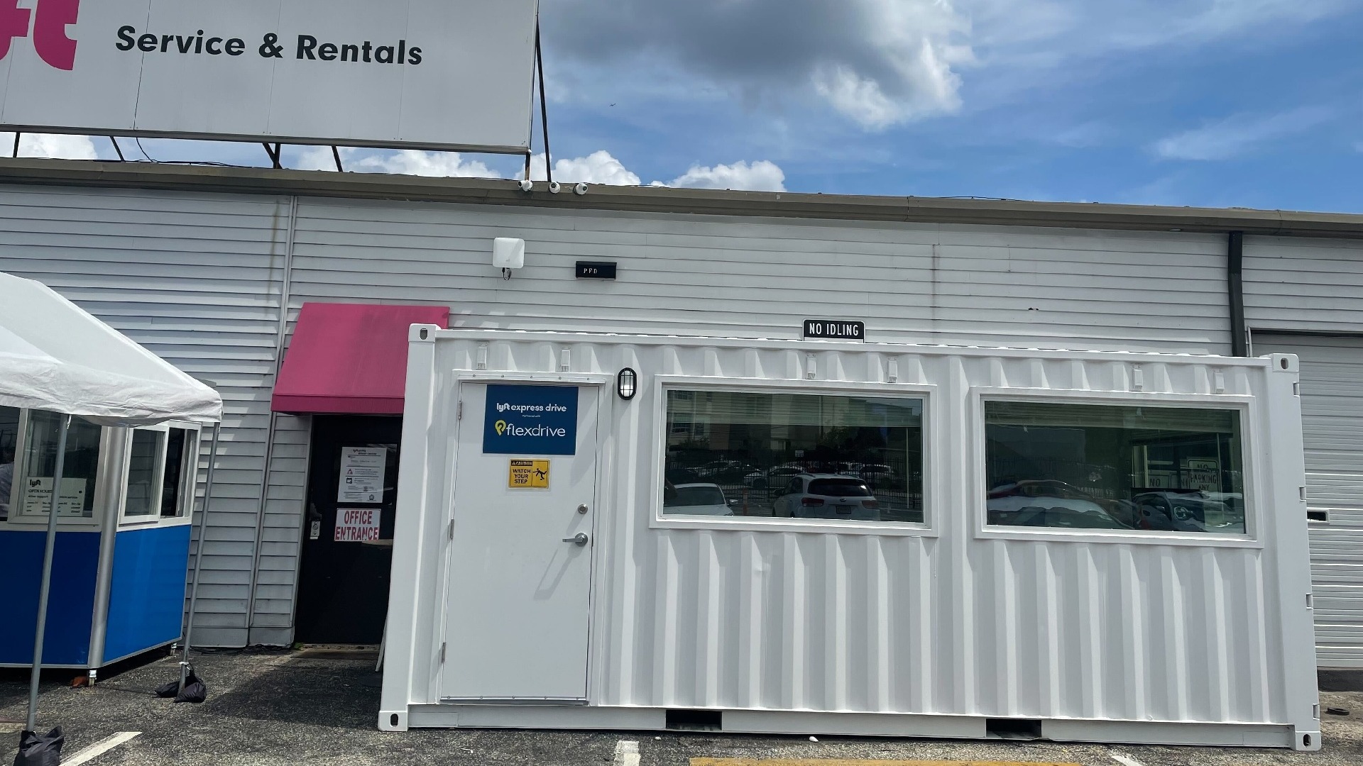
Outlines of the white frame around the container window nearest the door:
M923 402L923 514L924 521L912 522L861 522L838 519L763 519L761 517L680 517L664 515L662 485L667 466L667 440L664 432L668 412L668 391L731 391L737 394L803 394L829 397L875 397L920 399ZM942 487L939 470L943 461L940 435L945 429L938 423L942 408L934 406L938 386L923 383L855 383L844 380L769 380L759 378L701 378L691 375L654 375L653 455L649 477L649 527L650 529L709 529L770 533L822 533L882 537L938 537L940 536L942 512L936 507L936 488Z

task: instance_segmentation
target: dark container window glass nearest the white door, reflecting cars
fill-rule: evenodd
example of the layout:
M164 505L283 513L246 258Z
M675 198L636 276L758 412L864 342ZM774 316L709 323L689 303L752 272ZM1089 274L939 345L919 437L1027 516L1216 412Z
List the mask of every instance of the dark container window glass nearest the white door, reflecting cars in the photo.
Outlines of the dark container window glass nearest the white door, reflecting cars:
M669 390L662 514L921 523L923 399Z

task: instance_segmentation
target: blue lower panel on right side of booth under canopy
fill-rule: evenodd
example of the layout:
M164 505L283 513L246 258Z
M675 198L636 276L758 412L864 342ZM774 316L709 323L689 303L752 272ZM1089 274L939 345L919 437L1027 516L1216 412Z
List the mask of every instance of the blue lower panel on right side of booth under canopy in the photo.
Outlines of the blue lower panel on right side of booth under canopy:
M189 525L128 529L113 544L109 627L104 661L110 662L180 638Z

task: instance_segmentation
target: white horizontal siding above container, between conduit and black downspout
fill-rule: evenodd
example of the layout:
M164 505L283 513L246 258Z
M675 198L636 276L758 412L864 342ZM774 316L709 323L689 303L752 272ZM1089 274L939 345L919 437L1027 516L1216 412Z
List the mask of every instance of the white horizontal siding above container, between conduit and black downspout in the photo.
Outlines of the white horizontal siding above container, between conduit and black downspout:
M502 279L492 239L526 240ZM577 260L619 279L574 279ZM876 341L1224 352L1223 237L518 211L303 199L292 307L448 305L459 327L797 338L814 316Z

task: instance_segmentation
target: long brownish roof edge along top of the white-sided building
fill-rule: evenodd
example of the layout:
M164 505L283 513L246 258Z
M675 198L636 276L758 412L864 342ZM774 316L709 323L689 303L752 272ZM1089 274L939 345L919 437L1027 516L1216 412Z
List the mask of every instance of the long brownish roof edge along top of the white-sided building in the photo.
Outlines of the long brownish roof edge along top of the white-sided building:
M920 196L592 185L586 195L522 192L515 181L82 159L0 158L0 184L504 204L692 215L1363 239L1363 215Z

